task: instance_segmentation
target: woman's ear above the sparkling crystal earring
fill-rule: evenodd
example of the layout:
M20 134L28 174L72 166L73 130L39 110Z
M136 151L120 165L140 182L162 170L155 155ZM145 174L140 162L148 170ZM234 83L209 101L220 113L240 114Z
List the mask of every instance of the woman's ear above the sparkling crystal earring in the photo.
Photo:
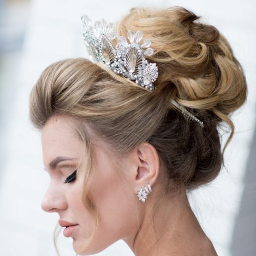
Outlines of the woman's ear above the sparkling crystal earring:
M144 142L133 152L133 159L136 164L132 165L132 182L137 194L147 183L151 186L155 183L159 175L159 156L152 144Z

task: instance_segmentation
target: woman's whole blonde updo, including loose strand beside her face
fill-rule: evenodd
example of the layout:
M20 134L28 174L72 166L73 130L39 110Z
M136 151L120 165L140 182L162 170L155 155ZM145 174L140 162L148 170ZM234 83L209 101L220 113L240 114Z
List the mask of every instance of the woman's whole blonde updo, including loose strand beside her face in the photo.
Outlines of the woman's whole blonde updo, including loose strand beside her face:
M131 9L116 24L117 34L141 30L152 41L154 54L147 59L157 63L157 89L148 92L85 58L61 60L42 72L31 91L31 121L41 129L53 115L70 117L90 153L91 166L92 138L84 124L110 145L116 158L145 141L151 143L166 174L166 194L174 184L194 189L214 180L234 133L230 115L245 102L247 85L227 39L199 18L179 6ZM171 99L202 120L204 128L187 121ZM222 152L218 129L225 124L230 135ZM92 174L92 168L87 170L84 184ZM83 200L97 216L88 185Z

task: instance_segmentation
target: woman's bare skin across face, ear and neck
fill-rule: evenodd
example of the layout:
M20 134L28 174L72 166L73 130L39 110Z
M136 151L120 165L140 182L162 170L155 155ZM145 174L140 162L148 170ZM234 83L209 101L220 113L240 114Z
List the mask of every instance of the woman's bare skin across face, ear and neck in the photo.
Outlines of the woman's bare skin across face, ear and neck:
M179 196L162 196L162 174L154 146L142 143L123 158L120 175L107 154L108 145L100 139L93 141L96 167L91 190L98 208L99 224L94 240L82 253L78 252L91 236L94 222L81 199L85 168L77 169L77 166L84 154L83 144L68 121L65 116L52 117L41 131L43 161L50 175L41 207L47 212L57 212L61 220L78 224L72 235L77 253L98 253L122 239L136 256L217 255L189 206L185 188L181 187ZM62 161L55 169L50 169L49 163L58 156L75 159ZM76 180L63 183L76 169ZM143 203L137 191L147 182L151 184L152 193ZM156 211L154 232L151 214L159 197L162 202Z

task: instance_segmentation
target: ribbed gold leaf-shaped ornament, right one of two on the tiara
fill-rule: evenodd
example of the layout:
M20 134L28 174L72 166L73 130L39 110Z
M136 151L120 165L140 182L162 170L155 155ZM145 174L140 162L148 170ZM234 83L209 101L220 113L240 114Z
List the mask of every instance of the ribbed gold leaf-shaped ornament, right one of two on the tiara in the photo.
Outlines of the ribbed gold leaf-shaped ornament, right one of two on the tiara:
M139 67L142 65L141 53L133 47L126 54L125 68L130 73L136 75L139 71Z

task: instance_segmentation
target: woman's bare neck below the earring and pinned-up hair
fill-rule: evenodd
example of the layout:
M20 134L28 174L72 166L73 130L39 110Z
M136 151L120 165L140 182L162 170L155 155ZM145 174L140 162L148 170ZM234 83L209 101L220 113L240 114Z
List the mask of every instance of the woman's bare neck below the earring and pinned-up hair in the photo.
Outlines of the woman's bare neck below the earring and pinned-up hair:
M156 187L154 192L156 197ZM136 256L217 255L190 208L184 187L179 197L162 197L155 218L152 209L156 199L147 200L139 230L124 240Z

